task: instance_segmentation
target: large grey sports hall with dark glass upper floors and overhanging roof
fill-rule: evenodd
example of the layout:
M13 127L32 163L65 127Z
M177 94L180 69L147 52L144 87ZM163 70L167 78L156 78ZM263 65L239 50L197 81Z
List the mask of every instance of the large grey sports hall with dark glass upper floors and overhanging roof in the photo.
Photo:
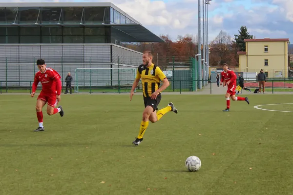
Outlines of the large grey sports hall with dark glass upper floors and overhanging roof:
M112 3L14 2L0 6L0 81L32 80L39 58L63 78L76 68L137 67L142 53L125 45L163 42Z

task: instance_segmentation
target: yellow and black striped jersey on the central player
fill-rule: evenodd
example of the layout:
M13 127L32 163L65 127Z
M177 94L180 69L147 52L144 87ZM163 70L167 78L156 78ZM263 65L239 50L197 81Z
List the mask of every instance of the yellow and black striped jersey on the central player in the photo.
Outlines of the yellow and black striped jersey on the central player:
M142 79L143 94L144 97L151 97L160 86L160 80L166 78L162 70L151 64L150 67L146 68L143 64L137 68L136 79Z

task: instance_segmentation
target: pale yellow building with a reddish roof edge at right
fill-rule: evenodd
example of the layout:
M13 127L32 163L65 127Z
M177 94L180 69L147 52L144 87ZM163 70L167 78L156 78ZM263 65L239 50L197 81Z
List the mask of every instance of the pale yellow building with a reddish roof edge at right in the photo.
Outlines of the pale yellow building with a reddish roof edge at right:
M245 52L238 52L239 71L268 72L268 78L288 78L289 39L244 39Z

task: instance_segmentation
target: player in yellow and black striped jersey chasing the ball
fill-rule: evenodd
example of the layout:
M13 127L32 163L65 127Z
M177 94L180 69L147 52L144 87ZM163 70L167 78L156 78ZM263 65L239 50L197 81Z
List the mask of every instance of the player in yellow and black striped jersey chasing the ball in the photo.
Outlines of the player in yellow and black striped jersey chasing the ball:
M146 51L143 54L143 64L137 68L136 78L133 82L130 101L134 95L134 90L138 85L140 79L142 79L143 85L143 97L145 110L143 112L143 119L140 125L139 134L136 139L132 142L133 145L137 146L143 141L143 136L148 127L148 121L157 122L168 112L172 111L178 113L174 104L170 102L167 107L158 110L158 105L161 101L161 92L169 86L169 81L161 69L152 63L153 55L150 51ZM160 87L160 80L163 81L163 85Z

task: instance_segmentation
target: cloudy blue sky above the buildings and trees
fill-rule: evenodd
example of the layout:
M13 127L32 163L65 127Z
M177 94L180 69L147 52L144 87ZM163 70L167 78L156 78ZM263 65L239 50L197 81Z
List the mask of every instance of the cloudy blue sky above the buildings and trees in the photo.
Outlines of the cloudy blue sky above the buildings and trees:
M8 0L0 0L0 2ZM15 2L112 2L156 35L198 32L198 0L12 0ZM11 2L11 1L10 1ZM202 0L201 0L202 2ZM245 25L256 39L289 38L293 42L293 0L211 0L209 40L220 30L232 38Z

